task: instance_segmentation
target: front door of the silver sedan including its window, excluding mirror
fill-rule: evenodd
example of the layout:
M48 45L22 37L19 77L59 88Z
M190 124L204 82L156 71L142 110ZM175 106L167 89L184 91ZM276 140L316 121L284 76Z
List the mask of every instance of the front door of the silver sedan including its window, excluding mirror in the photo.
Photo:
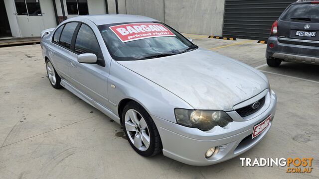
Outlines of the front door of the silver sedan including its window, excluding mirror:
M69 73L72 84L104 107L110 108L107 99L108 70L93 30L82 24L75 39L74 51L70 60ZM78 54L93 53L98 62L94 64L79 63ZM70 56L71 57L71 56Z

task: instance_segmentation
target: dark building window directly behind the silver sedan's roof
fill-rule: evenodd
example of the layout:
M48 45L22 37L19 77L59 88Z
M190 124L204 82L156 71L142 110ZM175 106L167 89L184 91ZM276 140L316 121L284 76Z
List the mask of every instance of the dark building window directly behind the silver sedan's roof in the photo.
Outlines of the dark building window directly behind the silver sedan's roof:
M66 0L66 7L69 15L89 14L87 0Z

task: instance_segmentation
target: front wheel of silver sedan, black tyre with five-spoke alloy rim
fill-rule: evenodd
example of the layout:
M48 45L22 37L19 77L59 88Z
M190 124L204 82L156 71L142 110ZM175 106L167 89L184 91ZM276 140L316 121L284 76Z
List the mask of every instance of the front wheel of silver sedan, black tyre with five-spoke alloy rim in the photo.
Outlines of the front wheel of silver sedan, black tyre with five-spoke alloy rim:
M137 102L129 102L123 109L125 135L132 148L144 157L155 156L162 150L159 131L150 114Z

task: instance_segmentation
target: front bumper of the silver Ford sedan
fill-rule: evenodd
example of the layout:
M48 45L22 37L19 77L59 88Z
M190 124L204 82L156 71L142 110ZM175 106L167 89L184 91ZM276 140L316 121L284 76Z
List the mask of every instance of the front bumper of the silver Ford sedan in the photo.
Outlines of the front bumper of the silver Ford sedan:
M269 93L268 93L269 94ZM234 121L226 127L216 126L210 131L201 131L196 128L184 127L152 116L160 133L163 145L163 155L179 162L193 166L207 166L234 158L255 146L270 130L276 111L277 97L272 91L266 97L270 101L265 109L251 119L237 121L239 115L227 112ZM266 104L265 104L266 105ZM253 128L272 115L269 126L254 139L251 138ZM240 116L239 116L240 117ZM217 147L210 158L206 158L206 151Z

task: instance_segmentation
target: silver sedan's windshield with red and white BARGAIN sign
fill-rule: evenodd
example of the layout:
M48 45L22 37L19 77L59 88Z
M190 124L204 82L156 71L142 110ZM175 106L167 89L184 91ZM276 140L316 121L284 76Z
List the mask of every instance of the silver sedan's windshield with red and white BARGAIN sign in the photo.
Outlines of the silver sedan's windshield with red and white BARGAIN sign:
M147 27L147 25L150 26ZM117 31L114 30L114 27ZM185 53L198 48L161 22L105 24L99 25L98 28L114 60L152 59ZM154 32L150 28L153 28ZM166 35L162 35L161 30Z

